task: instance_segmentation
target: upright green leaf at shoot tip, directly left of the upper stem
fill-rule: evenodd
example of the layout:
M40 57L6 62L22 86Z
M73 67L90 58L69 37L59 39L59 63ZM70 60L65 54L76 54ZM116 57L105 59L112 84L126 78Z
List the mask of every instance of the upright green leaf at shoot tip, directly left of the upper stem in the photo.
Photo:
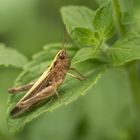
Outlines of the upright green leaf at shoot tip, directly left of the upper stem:
M96 10L93 25L102 39L110 38L114 33L111 2L107 2Z

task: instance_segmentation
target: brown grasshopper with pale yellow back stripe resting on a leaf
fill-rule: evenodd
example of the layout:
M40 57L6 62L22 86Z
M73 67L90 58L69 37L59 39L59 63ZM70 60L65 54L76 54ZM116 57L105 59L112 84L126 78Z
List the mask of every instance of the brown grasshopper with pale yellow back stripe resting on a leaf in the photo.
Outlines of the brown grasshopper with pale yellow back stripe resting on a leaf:
M10 111L10 115L13 117L19 116L30 108L33 108L38 103L46 101L46 99L54 96L55 94L59 97L57 90L63 83L67 74L78 80L84 80L85 77L81 75L75 68L71 68L70 65L70 57L67 52L62 49L57 53L50 67L40 76L36 82L31 82L21 87L8 89L8 92L11 94L27 91L27 93ZM79 74L79 76L69 73L68 70L75 71L77 74Z

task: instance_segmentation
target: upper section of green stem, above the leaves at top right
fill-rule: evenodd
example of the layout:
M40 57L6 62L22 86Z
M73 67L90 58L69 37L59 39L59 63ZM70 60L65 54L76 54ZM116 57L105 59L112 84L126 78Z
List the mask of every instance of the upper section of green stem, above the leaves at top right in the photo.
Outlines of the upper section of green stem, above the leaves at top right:
M119 31L120 36L124 36L126 34L125 25L122 24L122 14L121 14L121 7L119 0L112 0L113 5L113 13L114 13L114 20L116 23L116 27Z

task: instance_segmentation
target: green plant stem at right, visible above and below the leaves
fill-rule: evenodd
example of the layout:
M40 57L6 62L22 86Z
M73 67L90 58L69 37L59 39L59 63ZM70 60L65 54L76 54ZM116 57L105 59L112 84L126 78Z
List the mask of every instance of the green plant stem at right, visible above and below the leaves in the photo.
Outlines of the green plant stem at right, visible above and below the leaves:
M126 32L126 27L124 24L122 24L122 12L121 12L121 6L119 0L112 0L112 5L114 9L114 19L116 22L117 29L119 31L120 36L124 36ZM132 62L127 67L129 79L130 79L130 85L132 90L132 97L134 102L134 111L136 116L136 122L135 122L135 130L136 130L136 137L140 139L140 80L139 80L139 71L138 71L138 65L137 62Z

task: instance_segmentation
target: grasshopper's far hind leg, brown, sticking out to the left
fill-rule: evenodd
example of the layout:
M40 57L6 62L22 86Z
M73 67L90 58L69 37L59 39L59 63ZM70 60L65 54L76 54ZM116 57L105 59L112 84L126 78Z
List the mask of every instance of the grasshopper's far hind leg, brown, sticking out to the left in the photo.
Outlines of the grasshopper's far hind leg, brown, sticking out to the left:
M22 91L28 91L33 85L34 85L34 81L27 84L27 85L23 85L23 86L20 86L20 87L13 87L13 88L9 88L8 89L8 92L10 94L15 94L15 93L18 93L18 92L22 92Z

